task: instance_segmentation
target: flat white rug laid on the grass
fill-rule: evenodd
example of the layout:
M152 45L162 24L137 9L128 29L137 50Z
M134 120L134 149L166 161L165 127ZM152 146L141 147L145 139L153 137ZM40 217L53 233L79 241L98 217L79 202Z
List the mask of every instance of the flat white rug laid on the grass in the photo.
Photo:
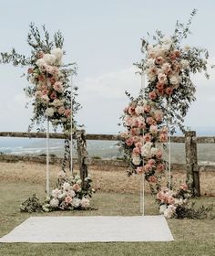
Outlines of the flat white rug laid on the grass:
M166 219L144 217L31 217L0 242L109 242L174 240Z

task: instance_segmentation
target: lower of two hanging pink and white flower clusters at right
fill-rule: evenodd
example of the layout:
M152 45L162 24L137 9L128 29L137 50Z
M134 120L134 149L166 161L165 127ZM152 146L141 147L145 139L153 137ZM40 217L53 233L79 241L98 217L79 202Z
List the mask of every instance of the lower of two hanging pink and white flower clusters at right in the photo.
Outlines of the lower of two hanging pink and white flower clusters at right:
M162 158L163 144L168 141L168 129L162 124L163 112L153 101L138 97L124 110L122 121L126 132L122 132L121 149L128 161L128 176L145 174L148 182L156 184L165 170Z

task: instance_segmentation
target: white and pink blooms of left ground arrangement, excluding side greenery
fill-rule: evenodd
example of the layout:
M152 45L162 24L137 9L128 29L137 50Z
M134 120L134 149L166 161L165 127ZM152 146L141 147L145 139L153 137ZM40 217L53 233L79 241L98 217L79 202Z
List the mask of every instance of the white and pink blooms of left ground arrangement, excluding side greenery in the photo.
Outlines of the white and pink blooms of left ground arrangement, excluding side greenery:
M57 209L72 210L72 209L88 209L90 202L87 197L92 197L95 192L91 188L92 182L90 176L85 178L85 186L82 186L80 176L70 176L67 178L65 172L59 172L58 185L52 190L50 198L43 205L43 210L53 211Z

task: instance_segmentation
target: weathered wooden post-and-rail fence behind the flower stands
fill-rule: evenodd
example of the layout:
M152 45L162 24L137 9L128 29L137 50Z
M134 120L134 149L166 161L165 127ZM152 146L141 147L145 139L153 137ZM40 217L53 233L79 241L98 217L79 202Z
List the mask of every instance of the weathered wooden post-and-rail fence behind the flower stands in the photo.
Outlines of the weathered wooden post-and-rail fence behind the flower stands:
M78 144L78 164L80 168L80 175L87 175L87 165L121 165L126 166L122 161L115 160L95 160L89 159L86 153L87 140L98 140L98 141L118 141L120 140L120 135L116 134L86 134L84 130L79 131L79 136L82 137L82 142L84 144ZM19 133L19 132L0 132L0 137L20 137L20 138L46 138L46 133ZM50 133L49 137L51 139L64 139L65 135L63 133ZM78 143L78 139L77 139ZM187 179L191 181L189 183L189 188L193 193L200 197L200 168L206 169L210 165L198 165L198 155L197 155L197 144L214 144L215 137L201 136L197 137L196 132L190 131L185 133L185 136L172 136L171 143L182 143L185 144L186 152L186 168ZM5 155L2 155L0 159L4 159ZM30 157L30 156L29 156ZM31 157L32 158L32 157ZM173 164L176 165L176 164Z

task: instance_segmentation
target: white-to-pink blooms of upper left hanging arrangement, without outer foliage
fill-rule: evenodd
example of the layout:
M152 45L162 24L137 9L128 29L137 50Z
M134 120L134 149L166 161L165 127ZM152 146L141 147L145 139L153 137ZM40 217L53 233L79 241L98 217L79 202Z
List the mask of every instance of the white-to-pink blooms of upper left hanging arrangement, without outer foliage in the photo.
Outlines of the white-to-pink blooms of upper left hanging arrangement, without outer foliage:
M61 72L63 50L53 48L50 53L39 51L35 65L28 69L27 79L32 83L28 87L27 95L33 98L36 120L40 115L57 126L63 126L63 132L69 133L71 126L71 104L66 99L67 80ZM62 68L61 68L62 69Z

